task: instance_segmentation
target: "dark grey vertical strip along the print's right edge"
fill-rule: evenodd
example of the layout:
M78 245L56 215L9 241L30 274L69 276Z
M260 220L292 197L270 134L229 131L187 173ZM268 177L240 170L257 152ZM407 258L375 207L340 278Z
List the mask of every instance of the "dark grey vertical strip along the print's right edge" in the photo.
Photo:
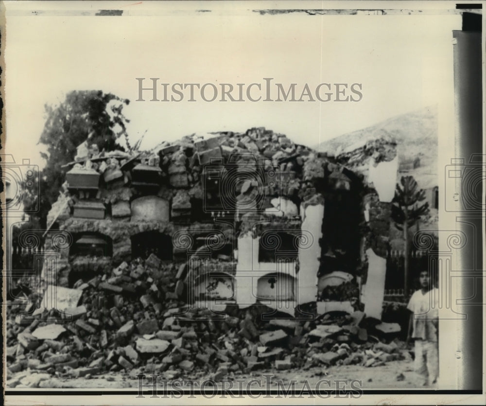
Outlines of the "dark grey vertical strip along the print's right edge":
M481 28L481 27L479 27ZM456 158L465 159L463 178L461 179L461 212L457 220L461 230L466 233L471 244L461 251L461 265L463 270L474 270L478 277L475 278L476 297L469 301L461 309L467 314L467 320L463 324L462 380L464 386L460 389L481 389L483 380L483 280L482 274L482 202L481 184L474 183L475 189L465 187L464 177L468 170L474 173L478 165L484 167L483 150L483 119L482 119L482 46L480 31L454 31L454 92L455 111L458 125L456 126ZM482 157L482 158L481 158ZM478 161L479 158L479 161ZM481 160L483 162L481 163ZM481 171L480 171L481 172ZM473 224L473 226L464 223ZM476 229L476 230L474 230ZM479 231L479 232L478 232ZM470 296L468 280L463 281L462 298ZM469 292L466 289L469 288ZM447 356L447 355L445 355Z

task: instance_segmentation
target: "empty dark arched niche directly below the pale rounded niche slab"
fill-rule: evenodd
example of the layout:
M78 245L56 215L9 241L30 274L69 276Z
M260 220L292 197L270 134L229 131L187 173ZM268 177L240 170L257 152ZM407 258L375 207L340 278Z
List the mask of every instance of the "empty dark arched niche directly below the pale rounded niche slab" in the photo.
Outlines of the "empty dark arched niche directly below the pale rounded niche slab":
M145 231L130 237L132 244L132 259L146 259L155 254L162 261L173 258L172 237L158 231Z

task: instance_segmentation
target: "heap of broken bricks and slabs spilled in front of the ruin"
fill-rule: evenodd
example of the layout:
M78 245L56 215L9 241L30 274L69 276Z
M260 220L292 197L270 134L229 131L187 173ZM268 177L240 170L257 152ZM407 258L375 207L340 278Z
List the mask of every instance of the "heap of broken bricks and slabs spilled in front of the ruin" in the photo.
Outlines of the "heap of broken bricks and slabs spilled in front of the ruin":
M175 292L175 272L180 278L179 269L164 267L152 254L80 280L74 289L58 289L58 303L69 306L62 311L58 306L22 317L25 304L14 302L6 330L7 385L26 385L21 371L40 377L28 380L30 387L52 376L108 371L134 378L160 373L165 379L199 373L217 381L266 368L371 367L407 355L393 340L399 328L360 311L278 318L264 305L239 309L230 303L219 315L194 308L185 289Z

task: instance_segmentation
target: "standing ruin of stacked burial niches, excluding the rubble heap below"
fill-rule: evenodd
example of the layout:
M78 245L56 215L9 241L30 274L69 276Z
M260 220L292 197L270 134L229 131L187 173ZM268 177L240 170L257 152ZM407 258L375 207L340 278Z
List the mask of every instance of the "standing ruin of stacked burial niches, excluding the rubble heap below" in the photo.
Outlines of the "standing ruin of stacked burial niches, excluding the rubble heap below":
M148 152L80 150L48 217L72 237L59 250L59 285L151 257L171 276L168 297L197 307L381 317L393 140L332 156L252 128Z

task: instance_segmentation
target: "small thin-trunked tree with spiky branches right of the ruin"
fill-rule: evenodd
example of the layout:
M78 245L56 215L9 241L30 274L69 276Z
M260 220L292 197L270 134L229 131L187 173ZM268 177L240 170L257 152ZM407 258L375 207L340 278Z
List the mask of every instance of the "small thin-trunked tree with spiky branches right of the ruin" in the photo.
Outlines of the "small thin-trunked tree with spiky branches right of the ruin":
M404 290L405 296L408 296L408 267L409 267L409 228L417 223L420 216L429 212L429 203L425 202L425 192L420 189L417 190L417 181L413 176L403 176L400 179L401 186L397 183L395 189L395 196L392 200L392 212L391 217L395 223L395 227L403 231L403 238L405 240L405 283Z

